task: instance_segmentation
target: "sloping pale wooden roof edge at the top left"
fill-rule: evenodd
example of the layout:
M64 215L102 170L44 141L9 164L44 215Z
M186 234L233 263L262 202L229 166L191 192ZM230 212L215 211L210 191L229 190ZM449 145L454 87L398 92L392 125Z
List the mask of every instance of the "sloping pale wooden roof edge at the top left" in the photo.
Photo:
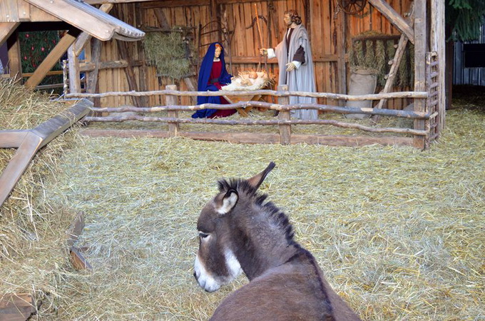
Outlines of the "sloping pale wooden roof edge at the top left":
M145 33L81 0L26 0L102 41L143 39Z

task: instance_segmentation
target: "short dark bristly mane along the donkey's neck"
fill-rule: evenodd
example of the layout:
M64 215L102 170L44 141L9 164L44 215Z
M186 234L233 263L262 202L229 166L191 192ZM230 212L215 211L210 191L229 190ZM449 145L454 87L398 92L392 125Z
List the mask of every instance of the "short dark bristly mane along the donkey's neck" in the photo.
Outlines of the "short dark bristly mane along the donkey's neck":
M227 192L228 190L237 190L238 193L244 193L247 195L247 198L252 200L255 205L259 205L262 208L262 212L265 213L268 218L272 220L273 223L280 226L282 230L285 230L286 240L288 245L296 245L300 247L298 243L293 240L293 235L295 235L293 231L293 227L288 220L287 215L277 208L277 206L268 201L265 203L267 198L267 194L257 193L257 189L252 187L247 180L242 180L238 178L230 178L230 180L219 180L219 191L220 192Z

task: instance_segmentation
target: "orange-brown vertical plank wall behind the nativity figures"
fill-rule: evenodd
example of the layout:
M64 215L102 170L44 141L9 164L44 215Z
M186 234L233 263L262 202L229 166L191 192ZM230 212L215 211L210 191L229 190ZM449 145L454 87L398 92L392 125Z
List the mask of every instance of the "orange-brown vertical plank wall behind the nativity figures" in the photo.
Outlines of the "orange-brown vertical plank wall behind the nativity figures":
M238 71L247 71L257 69L260 48L260 39L257 26L252 26L255 17L255 5L257 13L260 16L268 16L269 1L247 1L247 0L217 0L218 6L214 9L207 1L149 1L135 4L117 4L111 14L118 16L123 21L133 26L144 29L147 26L160 27L155 10L161 9L170 26L193 26L195 27L195 39L193 44L198 45L198 28L215 19L214 12L219 12L222 21L228 24L229 29L233 29L235 34L230 44L232 54L233 68L232 71L228 66L228 71L235 75ZM397 12L403 14L409 8L410 0L391 0L387 1ZM194 4L196 3L196 4ZM183 4L186 4L185 6ZM274 0L272 1L274 10L271 10L272 23L270 34L266 21L260 20L263 46L274 47L282 39L285 32L285 26L282 23L283 13L288 9L297 9L302 16L302 21L310 34L312 45L313 59L315 63L315 77L317 91L330 93L344 93L345 88L339 88L339 68L338 58L345 55L342 41L342 32L345 33L345 46L352 39L365 31L375 31L382 34L397 34L399 31L379 14L372 6L367 4L364 11L357 15L344 14L337 8L337 0ZM158 9L157 9L158 8ZM307 15L310 19L307 19ZM341 25L345 29L340 29ZM252 27L251 27L252 26ZM200 39L202 44L208 44L213 41L219 41L218 34L208 34ZM101 61L116 61L121 57L118 53L116 41L107 41L103 43L101 52ZM141 42L129 43L128 51L133 61L144 59ZM207 46L198 50L198 55L202 58ZM228 63L226 54L226 62ZM345 56L347 61L347 56ZM144 79L140 79L141 68L145 70ZM262 63L261 68L264 68ZM268 62L268 68L271 73L277 75L278 68L275 60ZM347 73L348 73L347 68ZM158 78L155 75L155 68L135 66L134 71L138 79L138 86L146 86L146 90L159 90L165 88L165 85L175 83L180 90L188 90L184 81L173 81L169 78ZM194 68L195 71L195 68ZM348 75L347 75L348 79ZM193 77L196 83L196 78ZM143 85L143 81L146 83ZM128 91L128 81L123 68L106 69L99 72L99 91ZM409 88L394 88L396 91L407 90ZM379 88L377 88L379 91ZM193 98L183 98L183 104L194 103ZM160 97L150 98L150 106L163 104ZM335 104L335 101L320 101L320 103ZM101 101L102 106L121 106L133 104L131 98L113 97L104 98ZM390 101L388 108L402 108L401 101Z

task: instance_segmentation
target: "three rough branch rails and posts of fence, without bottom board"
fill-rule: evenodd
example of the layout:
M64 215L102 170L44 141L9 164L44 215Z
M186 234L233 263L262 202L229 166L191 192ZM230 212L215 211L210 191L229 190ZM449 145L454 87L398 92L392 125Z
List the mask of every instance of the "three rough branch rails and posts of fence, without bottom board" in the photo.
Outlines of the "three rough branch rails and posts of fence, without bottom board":
M292 143L291 138L296 136L290 131L292 125L329 125L339 128L353 128L359 131L367 131L370 133L397 133L404 135L412 135L414 138L406 138L406 144L423 148L424 146L417 146L414 143L415 138L423 138L426 140L429 138L429 131L416 129L416 128L377 128L373 126L365 126L359 123L346 123L343 121L334 121L326 119L317 120L299 120L291 119L290 111L297 109L315 109L318 111L326 111L332 113L363 113L368 115L379 116L392 116L398 118L409 118L414 120L429 120L432 115L427 112L415 112L404 110L392 110L382 108L346 108L341 106L322 105L318 103L305 103L305 104L290 104L290 96L302 96L302 97L315 97L315 98L327 98L332 100L344 100L344 101L379 101L382 99L392 98L414 98L415 100L426 101L429 99L429 94L426 91L402 91L393 93L375 93L368 95L346 95L339 93L308 93L301 91L287 91L287 86L278 86L277 91L270 90L258 90L258 91L177 91L174 90L175 86L167 86L163 91L128 91L128 92L106 92L106 93L69 93L67 98L107 98L113 96L166 96L167 105L155 106L155 107L104 107L104 108L92 108L93 111L100 113L123 113L123 112L136 112L136 113L155 113L160 111L168 111L168 117L152 117L152 116L139 116L139 115L121 115L121 116L86 116L84 121L86 122L123 122L123 121L143 121L143 122L161 122L169 124L168 136L178 136L180 133L178 125L180 123L191 124L215 124L215 125L245 125L245 126L279 126L280 127L280 143L287 144ZM205 103L202 105L193 106L181 106L177 105L177 97L194 97L194 96L275 96L278 98L278 103L267 103L262 101L240 101L239 103L231 103L225 105ZM234 109L234 108L247 108L247 107L259 107L267 108L273 111L279 111L280 118L272 120L253 120L253 119L200 119L200 118L178 118L178 111L198 111L205 108L212 109ZM249 134L249 133L247 133ZM262 135L262 133L258 133ZM313 138L312 138L313 139ZM347 138L347 141L350 138ZM357 138L352 136L352 139L358 141ZM317 139L320 141L320 139ZM392 141L391 141L392 142ZM399 142L402 142L400 140ZM389 139L386 140L389 143ZM357 145L359 143L357 142Z

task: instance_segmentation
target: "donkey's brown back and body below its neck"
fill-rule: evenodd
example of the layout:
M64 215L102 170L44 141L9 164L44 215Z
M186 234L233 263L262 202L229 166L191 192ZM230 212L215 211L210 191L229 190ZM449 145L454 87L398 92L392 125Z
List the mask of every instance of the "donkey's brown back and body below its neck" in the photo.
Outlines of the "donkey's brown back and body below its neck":
M229 295L210 320L360 320L301 251Z

